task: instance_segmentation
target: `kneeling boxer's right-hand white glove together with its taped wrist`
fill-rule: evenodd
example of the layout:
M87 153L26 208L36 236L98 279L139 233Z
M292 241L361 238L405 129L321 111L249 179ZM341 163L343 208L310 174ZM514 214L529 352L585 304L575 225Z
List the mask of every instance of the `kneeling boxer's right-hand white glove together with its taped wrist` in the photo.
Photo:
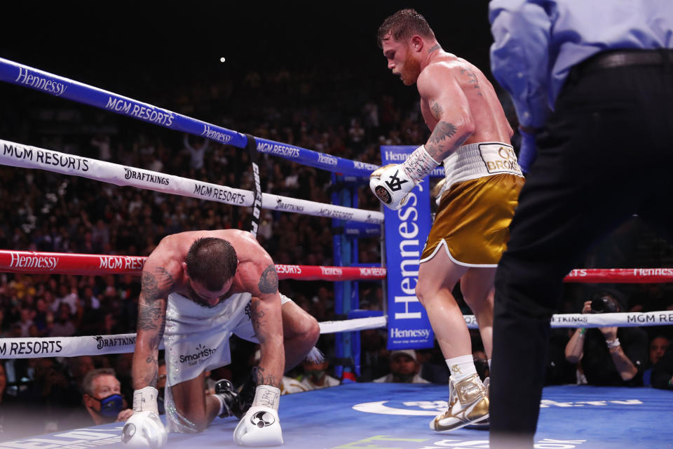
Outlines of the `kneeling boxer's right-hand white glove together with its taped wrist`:
M254 401L233 431L233 441L241 446L278 446L283 444L283 430L278 420L280 389L257 385Z

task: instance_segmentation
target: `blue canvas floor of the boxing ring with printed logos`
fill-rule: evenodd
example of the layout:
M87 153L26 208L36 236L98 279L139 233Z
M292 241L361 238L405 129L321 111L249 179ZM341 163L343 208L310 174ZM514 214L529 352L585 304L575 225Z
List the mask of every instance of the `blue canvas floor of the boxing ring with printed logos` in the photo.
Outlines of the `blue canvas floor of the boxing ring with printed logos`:
M434 384L350 383L283 396L285 448L488 448L488 432L437 434L428 422L447 406L447 387ZM670 448L673 392L643 387L545 387L536 448ZM439 411L441 410L441 411ZM515 413L512 411L512 413ZM161 417L162 420L164 417ZM216 418L200 434L169 434L166 448L239 448L236 418ZM124 448L123 423L0 441L0 449Z

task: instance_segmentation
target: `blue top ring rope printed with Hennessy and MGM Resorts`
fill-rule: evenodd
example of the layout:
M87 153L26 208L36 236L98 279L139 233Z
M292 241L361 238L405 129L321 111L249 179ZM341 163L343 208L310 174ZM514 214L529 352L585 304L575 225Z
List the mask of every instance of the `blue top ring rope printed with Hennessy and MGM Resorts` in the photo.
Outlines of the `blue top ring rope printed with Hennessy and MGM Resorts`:
M0 58L0 80L13 83L17 86L32 88L59 98L67 98L84 105L116 112L117 114L146 121L163 128L198 135L225 145L233 145L238 148L247 147L247 137L242 133L238 133L238 131L192 119L191 117L171 112L168 109L104 91L100 88L80 83L79 81L50 74L4 58ZM257 151L260 153L273 154L333 173L362 177L368 180L369 174L376 170L376 168L379 168L379 166L372 163L351 161L338 156L332 156L331 154L322 154L311 149L296 147L274 140L257 137L255 140L257 140Z

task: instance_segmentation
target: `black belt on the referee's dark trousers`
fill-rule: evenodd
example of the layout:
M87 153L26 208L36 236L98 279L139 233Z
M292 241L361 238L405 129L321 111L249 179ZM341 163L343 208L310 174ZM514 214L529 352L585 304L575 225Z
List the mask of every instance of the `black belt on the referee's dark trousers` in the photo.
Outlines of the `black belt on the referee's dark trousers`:
M660 50L615 50L604 51L580 62L573 68L576 75L594 72L601 69L613 69L628 66L651 66L662 67L671 65L673 50L661 48Z

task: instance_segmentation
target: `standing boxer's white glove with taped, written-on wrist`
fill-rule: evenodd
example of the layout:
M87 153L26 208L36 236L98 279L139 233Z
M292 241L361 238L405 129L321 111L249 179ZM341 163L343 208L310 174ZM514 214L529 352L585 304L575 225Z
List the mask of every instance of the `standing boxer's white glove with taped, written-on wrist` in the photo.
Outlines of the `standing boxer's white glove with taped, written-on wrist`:
M388 208L400 209L407 203L409 192L439 164L421 145L409 154L405 163L374 170L369 175L369 188Z

